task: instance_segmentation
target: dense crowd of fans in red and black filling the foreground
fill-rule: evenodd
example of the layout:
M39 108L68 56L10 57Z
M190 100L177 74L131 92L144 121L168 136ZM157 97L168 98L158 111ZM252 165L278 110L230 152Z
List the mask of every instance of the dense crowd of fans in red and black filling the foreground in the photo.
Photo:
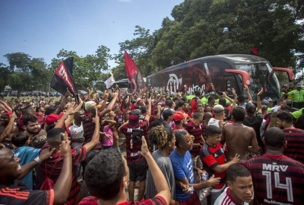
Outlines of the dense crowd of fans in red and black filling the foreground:
M256 104L246 86L2 99L0 204L302 204L304 90L290 89Z

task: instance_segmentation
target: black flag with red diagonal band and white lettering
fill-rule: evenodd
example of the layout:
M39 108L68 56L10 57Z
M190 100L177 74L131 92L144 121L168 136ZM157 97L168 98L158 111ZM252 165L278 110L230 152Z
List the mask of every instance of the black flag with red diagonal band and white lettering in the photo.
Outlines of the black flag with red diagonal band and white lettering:
M68 89L71 94L76 96L77 89L73 82L73 60L68 57L61 62L53 75L50 87L64 95Z

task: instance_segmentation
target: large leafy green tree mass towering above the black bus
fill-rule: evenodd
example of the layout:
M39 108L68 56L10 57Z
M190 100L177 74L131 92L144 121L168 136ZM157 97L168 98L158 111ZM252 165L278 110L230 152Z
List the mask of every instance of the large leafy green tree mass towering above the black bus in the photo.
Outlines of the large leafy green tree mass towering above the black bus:
M169 27L155 32L153 63L166 68L257 47L273 66L294 67L294 54L304 52L303 11L300 0L185 0L173 8Z

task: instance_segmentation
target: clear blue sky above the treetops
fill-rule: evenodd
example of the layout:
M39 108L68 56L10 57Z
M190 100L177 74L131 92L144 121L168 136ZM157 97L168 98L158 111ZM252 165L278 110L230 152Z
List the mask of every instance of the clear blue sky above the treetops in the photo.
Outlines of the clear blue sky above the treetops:
M50 64L61 49L94 54L100 45L118 53L118 43L134 38L135 26L153 32L183 0L1 0L0 63L24 52ZM114 61L109 62L111 68Z

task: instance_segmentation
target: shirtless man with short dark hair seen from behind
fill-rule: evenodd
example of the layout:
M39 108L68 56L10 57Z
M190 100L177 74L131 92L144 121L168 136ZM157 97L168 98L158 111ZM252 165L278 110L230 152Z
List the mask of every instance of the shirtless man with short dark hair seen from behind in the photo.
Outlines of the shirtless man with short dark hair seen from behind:
M237 153L240 155L240 163L242 165L247 161L247 151L257 153L258 141L253 128L243 125L245 110L241 106L237 106L232 111L231 119L235 122L233 125L223 126L221 143L226 142L227 155L226 159L234 157Z

